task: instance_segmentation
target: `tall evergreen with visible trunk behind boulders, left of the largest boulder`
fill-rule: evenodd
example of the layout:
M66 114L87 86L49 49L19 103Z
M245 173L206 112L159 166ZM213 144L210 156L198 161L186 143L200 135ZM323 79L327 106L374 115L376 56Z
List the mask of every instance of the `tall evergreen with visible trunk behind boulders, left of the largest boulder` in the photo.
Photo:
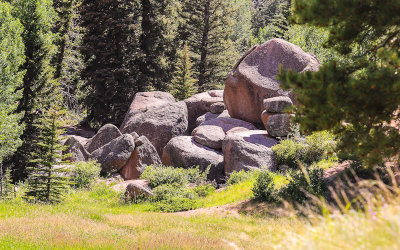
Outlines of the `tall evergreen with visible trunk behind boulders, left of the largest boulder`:
M183 2L181 38L189 41L195 55L199 91L221 87L238 57L237 46L231 39L237 11L232 1Z

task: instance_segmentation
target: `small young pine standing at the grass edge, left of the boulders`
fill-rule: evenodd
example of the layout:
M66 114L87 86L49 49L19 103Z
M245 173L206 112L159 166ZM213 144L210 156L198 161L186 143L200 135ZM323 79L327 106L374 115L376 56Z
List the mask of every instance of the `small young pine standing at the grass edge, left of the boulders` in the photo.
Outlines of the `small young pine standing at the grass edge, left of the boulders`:
M38 153L33 153L33 166L28 168L28 186L25 194L28 200L57 203L63 198L63 193L70 184L69 177L65 176L69 170L65 167L68 164L68 155L62 152L66 149L60 144L64 131L60 129L63 123L61 118L65 112L58 105L50 108L44 114L41 121L42 131L36 146Z

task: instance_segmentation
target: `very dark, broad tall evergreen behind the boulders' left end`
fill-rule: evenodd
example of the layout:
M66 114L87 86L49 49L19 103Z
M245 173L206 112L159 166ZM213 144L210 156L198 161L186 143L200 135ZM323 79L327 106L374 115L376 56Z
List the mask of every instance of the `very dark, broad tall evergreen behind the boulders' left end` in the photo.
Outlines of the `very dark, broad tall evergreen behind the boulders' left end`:
M129 0L82 2L83 102L87 122L94 127L119 125L134 93L144 90L134 65L139 53L138 9L138 3Z

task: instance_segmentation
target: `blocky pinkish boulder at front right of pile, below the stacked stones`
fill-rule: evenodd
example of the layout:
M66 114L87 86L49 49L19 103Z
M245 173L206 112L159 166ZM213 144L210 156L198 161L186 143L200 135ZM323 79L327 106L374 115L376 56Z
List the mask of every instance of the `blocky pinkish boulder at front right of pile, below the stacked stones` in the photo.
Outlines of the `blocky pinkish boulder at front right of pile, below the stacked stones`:
M222 146L225 175L233 171L257 168L276 169L275 154L271 147L278 142L265 130L247 130L229 133Z

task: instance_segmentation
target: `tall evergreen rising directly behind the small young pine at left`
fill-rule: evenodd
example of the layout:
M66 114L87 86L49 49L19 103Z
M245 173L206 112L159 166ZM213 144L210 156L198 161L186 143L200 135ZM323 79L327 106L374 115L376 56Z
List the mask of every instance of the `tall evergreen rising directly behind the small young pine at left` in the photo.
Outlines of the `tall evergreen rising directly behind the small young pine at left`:
M55 11L52 0L12 0L13 15L24 26L22 38L25 44L26 61L22 69L26 71L21 86L22 98L17 113L23 113L21 123L25 129L21 136L22 146L10 159L15 168L14 179L26 177L26 167L30 165L31 153L36 151L33 141L40 133L36 126L41 112L56 98L57 84L53 78L51 59L55 52L52 32Z

